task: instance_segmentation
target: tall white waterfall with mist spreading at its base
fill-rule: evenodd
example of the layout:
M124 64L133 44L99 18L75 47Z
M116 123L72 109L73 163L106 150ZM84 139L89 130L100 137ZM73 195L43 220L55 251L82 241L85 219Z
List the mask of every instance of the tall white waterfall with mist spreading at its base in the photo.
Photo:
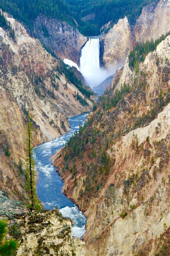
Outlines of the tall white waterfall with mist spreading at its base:
M89 38L81 50L80 72L91 87L99 85L108 76L113 75L114 70L100 67L100 39Z

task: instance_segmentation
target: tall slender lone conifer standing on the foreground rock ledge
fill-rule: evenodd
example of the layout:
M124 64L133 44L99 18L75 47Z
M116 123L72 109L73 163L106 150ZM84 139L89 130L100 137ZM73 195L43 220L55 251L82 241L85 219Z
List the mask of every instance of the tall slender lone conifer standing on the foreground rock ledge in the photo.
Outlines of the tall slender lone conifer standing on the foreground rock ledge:
M26 178L27 186L26 190L29 194L30 204L28 208L33 211L41 210L42 206L37 198L36 193L36 181L35 181L35 160L33 156L33 146L32 146L32 132L33 132L33 122L30 120L30 115L28 114L27 122L27 138L26 138Z

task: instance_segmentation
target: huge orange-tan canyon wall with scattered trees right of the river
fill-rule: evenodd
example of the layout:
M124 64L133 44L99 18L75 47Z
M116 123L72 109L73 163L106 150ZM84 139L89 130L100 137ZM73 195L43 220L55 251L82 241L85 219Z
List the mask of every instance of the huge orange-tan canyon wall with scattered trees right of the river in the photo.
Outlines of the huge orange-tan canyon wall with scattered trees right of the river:
M88 216L86 255L170 253L169 60L170 36L138 73L127 62L56 157L64 192Z

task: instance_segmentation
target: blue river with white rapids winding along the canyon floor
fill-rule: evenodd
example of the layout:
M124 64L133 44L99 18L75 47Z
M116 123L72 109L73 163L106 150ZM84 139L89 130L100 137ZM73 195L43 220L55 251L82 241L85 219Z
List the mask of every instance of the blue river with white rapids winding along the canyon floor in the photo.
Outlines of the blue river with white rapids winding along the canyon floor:
M50 157L57 149L62 148L74 132L79 130L79 123L84 124L88 113L69 118L70 131L60 137L34 148L36 168L38 172L37 195L47 210L53 207L60 209L63 217L69 217L73 224L73 235L81 238L85 232L86 217L79 211L75 203L62 193L64 185L61 176L56 172Z

